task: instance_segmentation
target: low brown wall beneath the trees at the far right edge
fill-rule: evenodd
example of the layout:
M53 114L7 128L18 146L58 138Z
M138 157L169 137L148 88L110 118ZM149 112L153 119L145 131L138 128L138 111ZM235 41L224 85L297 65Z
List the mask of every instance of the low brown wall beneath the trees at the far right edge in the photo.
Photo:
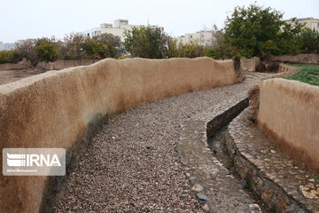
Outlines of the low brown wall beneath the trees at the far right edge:
M319 64L319 54L299 54L295 56L270 56L270 60L281 61L286 63L299 63L299 64Z

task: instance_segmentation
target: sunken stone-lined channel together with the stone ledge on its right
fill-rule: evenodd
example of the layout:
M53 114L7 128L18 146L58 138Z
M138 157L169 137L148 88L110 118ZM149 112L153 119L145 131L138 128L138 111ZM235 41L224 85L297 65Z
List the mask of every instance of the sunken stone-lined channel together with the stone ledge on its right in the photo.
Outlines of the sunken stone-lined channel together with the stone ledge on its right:
M229 111L231 108L208 122L207 143L262 211L319 212L317 175L277 150L249 121L247 109L221 127L220 123L229 121Z

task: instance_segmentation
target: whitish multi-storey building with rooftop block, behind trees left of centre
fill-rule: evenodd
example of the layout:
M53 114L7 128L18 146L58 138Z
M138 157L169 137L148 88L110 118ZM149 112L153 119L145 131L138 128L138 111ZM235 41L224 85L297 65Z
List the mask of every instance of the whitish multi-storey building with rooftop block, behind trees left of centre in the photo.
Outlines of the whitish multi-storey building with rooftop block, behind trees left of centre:
M109 23L103 23L100 24L99 28L91 28L88 30L85 30L82 32L82 34L84 36L97 36L97 35L101 35L101 34L112 34L113 36L120 36L121 37L121 41L124 42L124 31L125 30L130 30L133 27L147 27L144 25L128 25L128 20L114 20L114 26L113 24L109 24ZM148 26L151 28L160 28L162 31L164 31L164 28L162 27L158 27L158 26Z

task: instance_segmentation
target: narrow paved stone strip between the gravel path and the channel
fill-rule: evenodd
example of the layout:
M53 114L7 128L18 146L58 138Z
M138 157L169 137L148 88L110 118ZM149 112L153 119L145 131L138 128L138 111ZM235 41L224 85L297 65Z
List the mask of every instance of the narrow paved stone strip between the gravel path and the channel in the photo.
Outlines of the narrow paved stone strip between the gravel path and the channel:
M237 183L212 154L207 145L206 126L216 116L246 98L246 92L226 99L208 113L197 114L182 124L177 151L192 190L197 193L202 209L209 212L261 212L258 204Z

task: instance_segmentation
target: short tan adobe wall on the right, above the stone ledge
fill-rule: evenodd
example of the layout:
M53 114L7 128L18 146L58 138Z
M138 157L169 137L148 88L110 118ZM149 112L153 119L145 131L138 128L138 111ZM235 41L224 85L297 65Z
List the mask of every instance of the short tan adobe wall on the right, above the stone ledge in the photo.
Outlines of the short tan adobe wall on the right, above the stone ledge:
M319 172L319 87L280 78L263 81L260 129L285 154Z

